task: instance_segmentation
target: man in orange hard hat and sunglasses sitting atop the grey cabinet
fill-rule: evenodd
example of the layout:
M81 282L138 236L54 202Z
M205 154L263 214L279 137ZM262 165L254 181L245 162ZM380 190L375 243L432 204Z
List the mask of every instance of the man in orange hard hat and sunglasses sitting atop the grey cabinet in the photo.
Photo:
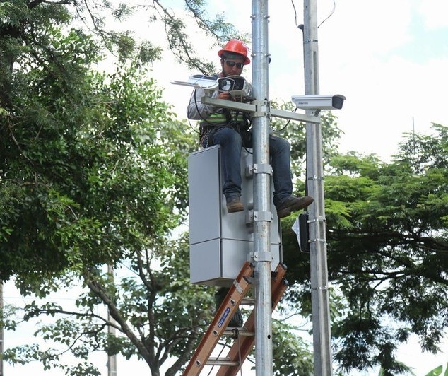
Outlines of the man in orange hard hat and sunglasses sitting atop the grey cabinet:
M218 77L241 76L244 65L250 64L247 46L241 40L230 40L218 51L221 71ZM228 91L209 92L213 98L232 100ZM187 108L189 119L201 120L200 141L204 148L220 145L223 170L223 194L228 213L244 210L241 201L241 149L252 148L252 129L247 114L212 107L201 103L206 92L195 88ZM273 171L273 204L279 218L289 216L292 211L307 207L311 196L293 196L293 181L290 170L290 144L285 139L269 136L269 155Z

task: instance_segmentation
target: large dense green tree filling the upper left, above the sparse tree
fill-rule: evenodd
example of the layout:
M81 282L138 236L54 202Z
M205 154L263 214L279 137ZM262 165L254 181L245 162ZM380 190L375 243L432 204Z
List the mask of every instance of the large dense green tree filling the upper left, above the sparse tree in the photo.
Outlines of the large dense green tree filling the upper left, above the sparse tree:
M63 271L80 249L93 263L116 259L165 234L172 208L186 204L184 151L170 153L169 140L186 146L188 135L158 90L137 83L135 69L93 74L100 40L67 26L77 14L112 46L101 9L109 6L0 3L3 280Z

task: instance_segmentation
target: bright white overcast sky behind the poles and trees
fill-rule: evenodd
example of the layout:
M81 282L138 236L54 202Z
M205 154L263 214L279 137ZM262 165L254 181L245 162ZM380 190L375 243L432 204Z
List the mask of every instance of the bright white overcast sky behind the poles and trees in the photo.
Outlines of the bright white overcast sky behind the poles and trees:
M130 3L131 1L128 1ZM183 1L173 0L172 6ZM208 1L211 14L225 13L237 28L251 32L249 0ZM297 23L303 22L303 2L294 0ZM339 93L347 100L342 110L335 111L338 125L345 132L342 150L375 153L387 160L396 153L403 132L429 134L432 122L448 126L448 1L447 0L319 0L318 23L334 13L319 27L320 93ZM290 0L269 1L269 66L270 98L290 100L291 95L304 93L302 31L296 27L294 8ZM157 41L154 25L140 25L136 33ZM160 30L159 30L160 31ZM218 56L211 41L192 34L196 46L209 59ZM250 45L249 45L250 47ZM165 88L165 100L175 106L180 118L191 90L173 86L172 80L184 81L189 74L175 63L167 52L165 59L153 67L154 76ZM252 73L244 69L249 80ZM11 288L5 292L6 303L19 299ZM21 341L34 341L29 336L12 334L5 346ZM26 339L28 338L28 339ZM12 342L12 343L11 343ZM414 341L415 342L415 341ZM415 343L403 346L399 360L415 367L416 375L424 375L448 356L427 356ZM105 372L105 358L98 359ZM60 375L59 372L39 372L38 365L11 368L5 365L5 375ZM118 374L148 374L146 365L119 360ZM141 372L141 373L138 373ZM365 373L362 375L372 375Z

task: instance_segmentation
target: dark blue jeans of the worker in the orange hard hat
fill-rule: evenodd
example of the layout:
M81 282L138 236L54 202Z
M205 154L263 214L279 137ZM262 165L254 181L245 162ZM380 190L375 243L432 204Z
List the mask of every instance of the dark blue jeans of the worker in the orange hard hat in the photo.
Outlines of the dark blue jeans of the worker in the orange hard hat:
M220 145L223 170L223 194L226 199L241 194L241 148L252 148L252 133L240 134L231 127L213 130L208 136L208 146ZM204 146L204 145L203 145ZM269 136L269 155L273 172L273 203L293 193L290 168L290 144L285 139Z

